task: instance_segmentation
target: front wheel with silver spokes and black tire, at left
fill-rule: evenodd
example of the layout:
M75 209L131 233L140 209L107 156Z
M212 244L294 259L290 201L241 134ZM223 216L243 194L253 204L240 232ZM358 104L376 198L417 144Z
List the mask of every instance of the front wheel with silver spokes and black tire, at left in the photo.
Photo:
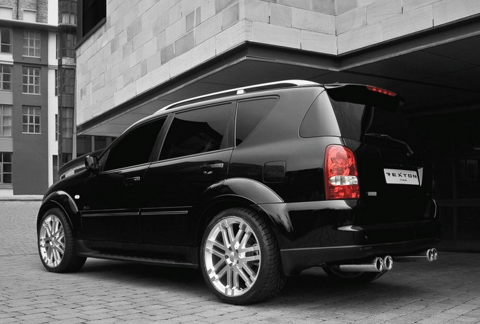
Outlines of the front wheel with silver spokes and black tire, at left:
M77 256L69 220L58 208L43 214L37 229L38 253L43 266L50 272L80 270L86 258Z

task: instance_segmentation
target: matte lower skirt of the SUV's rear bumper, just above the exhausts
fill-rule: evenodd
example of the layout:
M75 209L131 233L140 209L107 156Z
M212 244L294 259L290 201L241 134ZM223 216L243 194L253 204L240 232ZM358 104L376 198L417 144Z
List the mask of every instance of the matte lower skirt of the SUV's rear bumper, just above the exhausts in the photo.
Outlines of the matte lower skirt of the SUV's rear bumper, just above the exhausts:
M311 247L280 250L285 275L298 275L302 270L329 262L340 262L374 258L376 256L396 256L424 251L437 245L437 238L409 240L405 242L383 243L378 245L357 245L343 247Z

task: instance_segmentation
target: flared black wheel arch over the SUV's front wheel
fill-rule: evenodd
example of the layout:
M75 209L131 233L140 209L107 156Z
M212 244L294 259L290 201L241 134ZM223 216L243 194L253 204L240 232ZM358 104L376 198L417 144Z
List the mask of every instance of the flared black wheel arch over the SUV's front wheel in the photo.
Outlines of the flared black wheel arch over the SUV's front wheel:
M82 226L80 224L80 217L77 204L73 198L62 190L51 192L45 199L43 199L40 210L38 211L37 216L37 228L40 222L41 217L47 210L50 208L60 208L62 212L69 219L71 227L73 229L74 236L80 238L82 236Z

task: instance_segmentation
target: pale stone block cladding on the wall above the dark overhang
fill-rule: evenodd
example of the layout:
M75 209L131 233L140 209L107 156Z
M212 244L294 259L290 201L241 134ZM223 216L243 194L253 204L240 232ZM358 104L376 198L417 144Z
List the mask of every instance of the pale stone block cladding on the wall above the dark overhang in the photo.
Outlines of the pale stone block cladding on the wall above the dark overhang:
M245 41L339 55L479 13L478 0L112 0L77 49L77 123Z

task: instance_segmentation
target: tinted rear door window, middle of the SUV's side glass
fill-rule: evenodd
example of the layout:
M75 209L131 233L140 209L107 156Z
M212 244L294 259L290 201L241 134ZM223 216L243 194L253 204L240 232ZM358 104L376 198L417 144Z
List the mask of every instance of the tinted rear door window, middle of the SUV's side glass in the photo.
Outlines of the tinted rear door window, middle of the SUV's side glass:
M228 121L232 103L190 110L173 119L160 160L228 147Z

